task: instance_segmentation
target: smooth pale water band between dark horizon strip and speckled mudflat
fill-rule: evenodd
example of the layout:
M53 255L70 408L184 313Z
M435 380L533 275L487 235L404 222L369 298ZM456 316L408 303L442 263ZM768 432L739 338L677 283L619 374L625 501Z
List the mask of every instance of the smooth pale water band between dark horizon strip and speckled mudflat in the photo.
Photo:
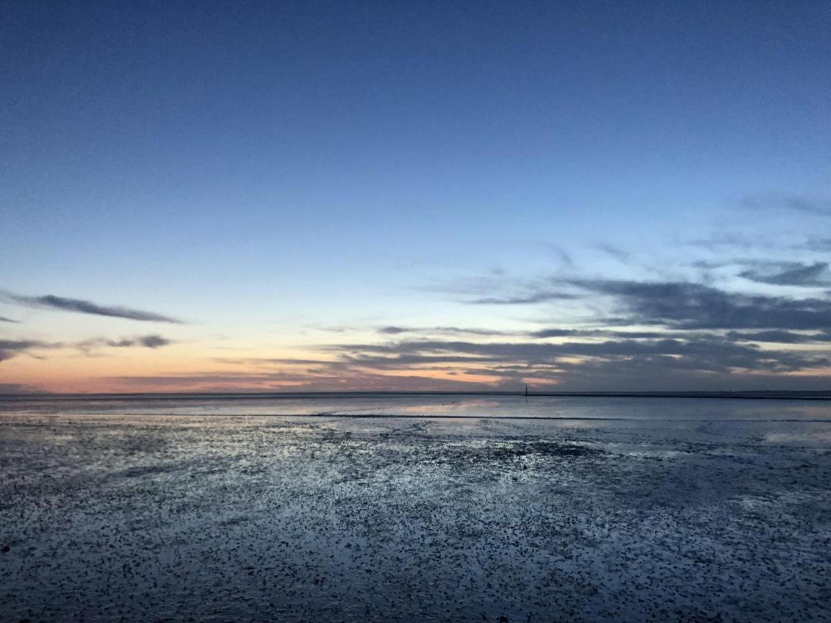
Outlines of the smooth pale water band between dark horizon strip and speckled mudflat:
M0 399L0 414L332 415L460 419L492 417L831 422L831 402L523 395L50 396Z

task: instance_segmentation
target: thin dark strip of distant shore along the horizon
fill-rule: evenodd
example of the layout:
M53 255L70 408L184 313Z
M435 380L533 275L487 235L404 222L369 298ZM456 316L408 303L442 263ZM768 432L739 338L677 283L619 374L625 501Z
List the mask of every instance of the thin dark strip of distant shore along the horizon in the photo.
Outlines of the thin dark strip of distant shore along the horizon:
M316 391L120 394L0 394L2 400L293 400L371 396L518 396L527 398L709 398L733 400L831 400L829 391Z

